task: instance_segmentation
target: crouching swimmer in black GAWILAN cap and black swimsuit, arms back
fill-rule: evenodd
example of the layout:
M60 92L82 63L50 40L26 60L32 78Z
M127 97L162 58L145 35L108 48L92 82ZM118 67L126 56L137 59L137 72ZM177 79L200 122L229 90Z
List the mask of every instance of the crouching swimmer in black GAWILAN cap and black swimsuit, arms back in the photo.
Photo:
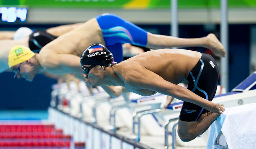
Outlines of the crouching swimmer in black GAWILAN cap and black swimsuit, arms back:
M80 63L86 82L92 86L120 85L143 96L159 92L183 100L178 127L183 141L196 138L222 114L223 108L211 102L217 88L218 68L208 54L160 49L114 63L104 45L93 44L84 50ZM185 79L189 81L188 89L176 85ZM213 113L207 116L206 110Z

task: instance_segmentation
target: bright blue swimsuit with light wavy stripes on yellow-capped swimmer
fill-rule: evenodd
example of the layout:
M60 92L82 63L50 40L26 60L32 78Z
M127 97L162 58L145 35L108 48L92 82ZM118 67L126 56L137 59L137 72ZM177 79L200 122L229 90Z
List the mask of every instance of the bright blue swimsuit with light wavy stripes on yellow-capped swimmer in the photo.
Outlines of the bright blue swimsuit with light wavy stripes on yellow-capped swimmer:
M123 60L123 43L142 47L147 45L147 32L131 22L109 13L95 18L102 30L105 46L113 54L115 62Z

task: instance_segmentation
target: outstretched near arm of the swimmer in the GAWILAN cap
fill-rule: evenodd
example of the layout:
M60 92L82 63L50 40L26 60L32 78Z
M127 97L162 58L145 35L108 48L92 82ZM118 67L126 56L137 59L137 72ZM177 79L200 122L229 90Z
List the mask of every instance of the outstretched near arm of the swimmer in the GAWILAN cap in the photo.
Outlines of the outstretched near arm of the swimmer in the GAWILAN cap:
M208 111L222 114L217 104L196 95L184 87L164 80L161 76L146 68L133 68L133 70L127 72L124 80L127 89L148 89L154 92L172 96L182 101L199 105Z

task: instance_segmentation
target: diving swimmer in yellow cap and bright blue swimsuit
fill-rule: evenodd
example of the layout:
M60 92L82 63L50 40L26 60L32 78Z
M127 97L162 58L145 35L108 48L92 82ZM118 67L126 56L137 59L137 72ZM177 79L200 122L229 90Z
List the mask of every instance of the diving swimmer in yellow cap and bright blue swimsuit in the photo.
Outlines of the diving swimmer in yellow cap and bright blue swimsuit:
M123 60L123 43L150 49L199 46L211 49L217 56L225 56L225 49L214 34L192 39L155 35L116 15L102 14L59 36L44 46L39 54L17 61L22 54L15 55L16 49L13 49L9 54L9 67L17 73L18 78L23 77L28 81L32 81L42 71L51 74L73 73L77 78L83 79L80 55L93 43L101 43L109 48L117 62Z

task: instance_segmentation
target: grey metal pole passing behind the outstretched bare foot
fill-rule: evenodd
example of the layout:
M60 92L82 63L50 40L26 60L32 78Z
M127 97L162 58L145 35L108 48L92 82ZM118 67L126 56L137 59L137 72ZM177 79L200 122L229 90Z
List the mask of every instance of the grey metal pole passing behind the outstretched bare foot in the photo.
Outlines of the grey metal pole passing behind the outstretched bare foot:
M221 22L220 22L220 39L226 49L226 57L221 58L221 80L220 84L228 89L228 74L229 74L229 52L228 52L228 0L220 0L221 2Z

